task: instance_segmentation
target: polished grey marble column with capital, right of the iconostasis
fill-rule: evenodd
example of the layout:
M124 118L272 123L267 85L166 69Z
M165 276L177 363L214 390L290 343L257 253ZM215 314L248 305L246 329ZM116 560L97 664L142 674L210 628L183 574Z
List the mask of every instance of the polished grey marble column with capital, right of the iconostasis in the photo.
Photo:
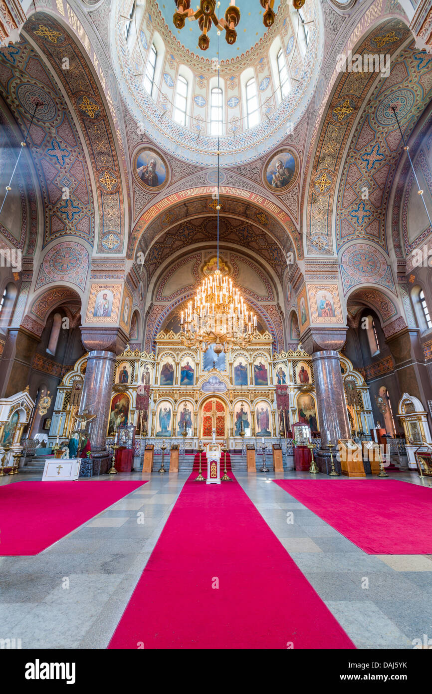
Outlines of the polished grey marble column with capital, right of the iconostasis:
M312 358L320 423L321 449L316 455L316 462L320 471L327 474L331 469L327 432L334 446L338 445L338 439L351 438L339 359L339 350L345 343L346 330L347 328L308 328L302 335L302 346ZM337 448L333 450L336 454ZM334 462L340 472L336 455Z

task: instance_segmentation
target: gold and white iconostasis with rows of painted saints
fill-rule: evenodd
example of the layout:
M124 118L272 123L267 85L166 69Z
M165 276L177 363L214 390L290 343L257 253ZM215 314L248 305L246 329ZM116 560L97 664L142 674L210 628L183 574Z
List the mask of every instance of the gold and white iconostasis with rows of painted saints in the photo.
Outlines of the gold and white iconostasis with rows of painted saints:
M257 335L252 344L217 354L187 348L175 332L160 332L155 354L126 349L116 360L107 438L114 437L124 423L136 427L137 439L180 439L182 447L196 448L199 439L209 439L216 430L218 439L230 448L241 448L247 439L279 439L284 433L282 412L278 411L276 389L289 395L286 429L294 422L310 426L318 435L313 365L299 346L287 353L273 353L273 337ZM351 407L355 428L368 432L373 426L368 386L362 375L340 357L344 380L354 380L358 403ZM86 357L76 362L58 389L50 436L66 436L78 412L74 394L83 384ZM148 409L137 409L137 394L148 394ZM268 441L270 443L270 441Z

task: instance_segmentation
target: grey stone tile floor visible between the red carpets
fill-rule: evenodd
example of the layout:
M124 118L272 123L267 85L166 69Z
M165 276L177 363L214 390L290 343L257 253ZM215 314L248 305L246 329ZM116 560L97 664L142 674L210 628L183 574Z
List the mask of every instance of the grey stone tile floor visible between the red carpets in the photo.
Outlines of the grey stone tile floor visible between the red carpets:
M21 638L22 648L106 648L188 476L122 474L121 479L149 482L40 555L0 557L0 638ZM414 639L423 641L424 634L432 639L432 556L367 555L270 482L272 477L274 473L236 474L356 647L412 649ZM416 473L393 477L432 486ZM278 478L310 475L284 473ZM40 475L6 476L0 485L32 479ZM291 512L293 523L287 523ZM26 509L23 523L31 526ZM424 519L413 518L413 523ZM257 590L265 600L265 586Z

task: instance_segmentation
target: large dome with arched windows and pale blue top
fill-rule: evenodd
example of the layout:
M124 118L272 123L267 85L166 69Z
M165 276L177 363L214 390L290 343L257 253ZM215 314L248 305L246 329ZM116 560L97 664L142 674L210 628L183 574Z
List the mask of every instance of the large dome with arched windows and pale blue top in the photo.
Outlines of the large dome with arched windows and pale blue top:
M304 113L322 58L318 0L300 12L275 0L269 28L258 0L236 0L235 42L213 24L204 50L200 19L175 26L175 0L137 0L132 21L128 0L112 4L112 59L123 97L144 133L173 155L214 166L219 149L222 165L248 162L279 144ZM220 22L230 8L229 0L216 2Z

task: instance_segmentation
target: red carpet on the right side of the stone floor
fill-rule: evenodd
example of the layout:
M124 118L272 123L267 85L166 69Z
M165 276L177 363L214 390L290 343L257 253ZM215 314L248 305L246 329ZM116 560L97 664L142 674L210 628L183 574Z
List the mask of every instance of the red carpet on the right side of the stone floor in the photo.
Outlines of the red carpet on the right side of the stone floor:
M399 480L273 482L368 555L432 554L429 487Z

